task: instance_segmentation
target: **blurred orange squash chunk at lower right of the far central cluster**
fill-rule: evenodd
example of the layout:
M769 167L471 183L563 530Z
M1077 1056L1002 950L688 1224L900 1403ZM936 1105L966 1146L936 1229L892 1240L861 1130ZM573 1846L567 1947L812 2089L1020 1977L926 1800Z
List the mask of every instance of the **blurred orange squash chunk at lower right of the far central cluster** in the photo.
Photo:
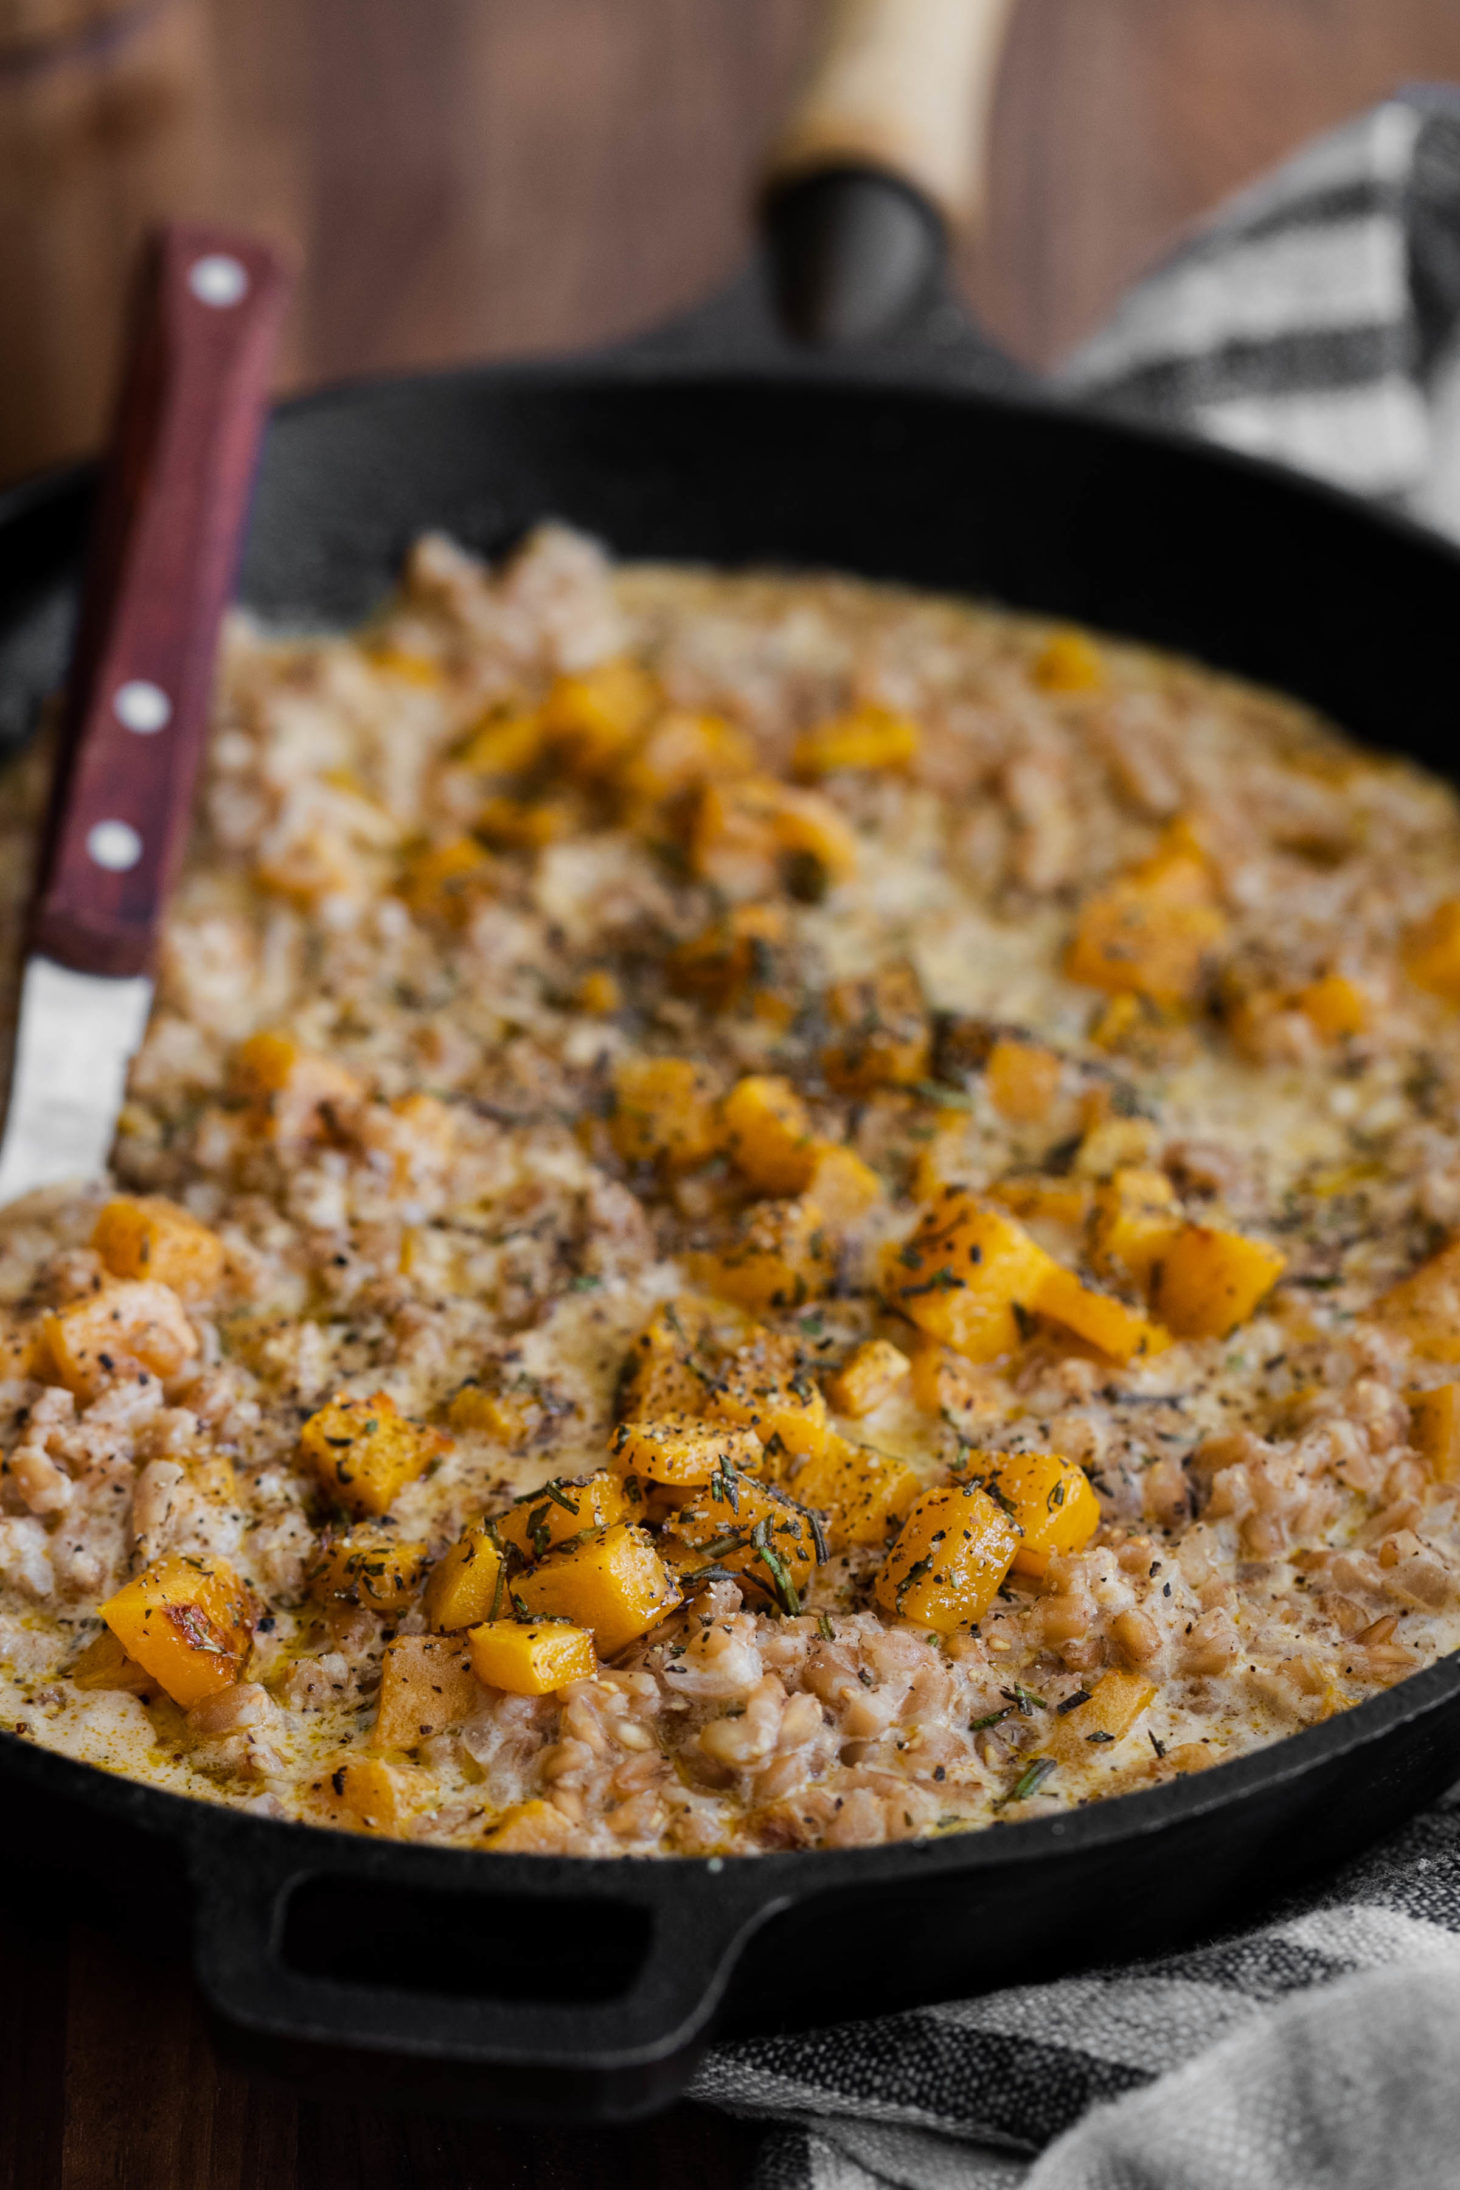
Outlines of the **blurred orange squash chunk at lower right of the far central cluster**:
M727 898L768 898L784 885L816 898L856 872L856 837L819 791L744 775L698 793L690 865Z

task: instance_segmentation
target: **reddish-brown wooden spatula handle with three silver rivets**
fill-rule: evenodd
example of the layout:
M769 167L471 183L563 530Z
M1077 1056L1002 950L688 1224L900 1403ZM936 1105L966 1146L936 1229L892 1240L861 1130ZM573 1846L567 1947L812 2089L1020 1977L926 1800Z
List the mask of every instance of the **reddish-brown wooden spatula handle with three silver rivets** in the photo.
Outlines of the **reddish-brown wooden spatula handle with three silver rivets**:
M169 226L147 254L31 909L31 948L77 972L151 961L287 293L274 252L221 228Z

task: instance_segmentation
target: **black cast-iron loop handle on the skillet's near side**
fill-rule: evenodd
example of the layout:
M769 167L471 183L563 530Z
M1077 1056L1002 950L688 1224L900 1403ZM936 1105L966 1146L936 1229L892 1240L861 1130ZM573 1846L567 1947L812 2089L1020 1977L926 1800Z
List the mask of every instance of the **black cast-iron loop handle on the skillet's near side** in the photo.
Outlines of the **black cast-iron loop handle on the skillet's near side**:
M254 2041L453 2067L668 2070L705 2039L742 1947L786 1894L700 1862L582 1864L311 1833L195 1842L201 1991ZM392 1877L392 1870L396 1877ZM589 1872L589 1877L584 1877ZM611 1872L604 1879L604 1872Z

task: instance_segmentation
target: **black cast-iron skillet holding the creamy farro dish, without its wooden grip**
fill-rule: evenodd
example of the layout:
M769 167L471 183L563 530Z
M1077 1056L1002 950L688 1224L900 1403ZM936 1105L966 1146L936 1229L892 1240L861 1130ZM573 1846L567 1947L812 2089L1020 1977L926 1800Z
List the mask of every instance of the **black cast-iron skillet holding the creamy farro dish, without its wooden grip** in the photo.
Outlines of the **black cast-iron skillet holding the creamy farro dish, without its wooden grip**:
M834 261L821 300L799 289L825 326L827 296L867 296L869 230L873 258L889 226L937 230L869 177L808 188L781 206L779 258L821 276ZM992 392L1011 370L913 289L895 339L854 366L795 353L751 280L615 359L285 405L243 598L350 622L422 528L497 554L554 515L626 556L836 567L1088 620L1453 773L1460 556L1276 469ZM707 328L735 370L707 361ZM70 473L0 499L11 727L61 661L88 497L90 473ZM101 1881L149 1934L190 1921L201 1989L254 2059L350 2074L372 2098L609 2118L665 2102L711 2030L891 2010L1250 1916L1456 1770L1445 1660L1200 1778L941 1842L725 1862L433 1851L188 1802L4 1734L0 1844L72 1899Z

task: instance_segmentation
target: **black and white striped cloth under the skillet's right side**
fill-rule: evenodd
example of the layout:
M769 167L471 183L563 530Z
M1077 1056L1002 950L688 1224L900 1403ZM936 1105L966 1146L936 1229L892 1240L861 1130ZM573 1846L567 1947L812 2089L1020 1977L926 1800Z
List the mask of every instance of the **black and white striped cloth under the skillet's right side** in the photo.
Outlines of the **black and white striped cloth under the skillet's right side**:
M1460 94L1232 199L1059 374L1460 534ZM1460 1805L1256 1932L801 2037L694 2096L755 2190L1458 2190Z

